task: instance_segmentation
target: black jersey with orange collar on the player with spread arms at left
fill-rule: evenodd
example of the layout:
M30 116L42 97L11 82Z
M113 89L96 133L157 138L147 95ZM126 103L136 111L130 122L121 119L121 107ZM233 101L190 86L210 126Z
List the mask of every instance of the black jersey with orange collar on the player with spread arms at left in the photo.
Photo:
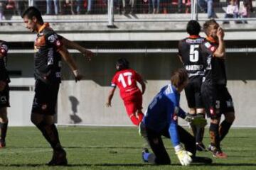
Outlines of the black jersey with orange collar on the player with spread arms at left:
M61 56L58 50L62 46L61 37L43 24L38 31L35 49L35 78L47 83L60 82Z

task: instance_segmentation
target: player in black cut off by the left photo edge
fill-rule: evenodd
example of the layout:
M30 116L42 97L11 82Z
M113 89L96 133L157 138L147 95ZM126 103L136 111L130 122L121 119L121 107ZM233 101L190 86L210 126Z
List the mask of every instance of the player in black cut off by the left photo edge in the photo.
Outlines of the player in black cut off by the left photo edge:
M6 146L6 132L8 127L7 107L9 104L9 74L6 69L8 46L0 40L0 148Z

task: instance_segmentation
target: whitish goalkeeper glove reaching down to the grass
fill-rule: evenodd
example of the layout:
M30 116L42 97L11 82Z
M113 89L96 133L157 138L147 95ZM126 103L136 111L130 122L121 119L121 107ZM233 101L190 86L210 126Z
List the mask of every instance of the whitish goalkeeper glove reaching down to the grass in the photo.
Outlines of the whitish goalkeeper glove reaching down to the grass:
M175 152L176 152L179 162L181 162L181 165L187 166L187 165L191 164L191 162L192 162L191 152L188 152L185 149L183 149L181 144L174 147L174 149L175 149Z

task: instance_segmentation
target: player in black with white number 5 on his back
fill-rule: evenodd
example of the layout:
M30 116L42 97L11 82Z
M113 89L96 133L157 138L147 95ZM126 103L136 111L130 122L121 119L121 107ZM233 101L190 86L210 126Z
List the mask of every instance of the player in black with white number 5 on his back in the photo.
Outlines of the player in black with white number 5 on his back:
M204 106L201 95L201 84L204 75L203 56L201 55L201 43L204 38L199 36L201 26L197 21L189 21L186 26L188 38L178 42L178 57L188 73L188 84L185 87L186 99L188 101L189 113L191 115L204 115ZM196 138L196 149L206 151L203 145L204 128L191 125L194 137Z

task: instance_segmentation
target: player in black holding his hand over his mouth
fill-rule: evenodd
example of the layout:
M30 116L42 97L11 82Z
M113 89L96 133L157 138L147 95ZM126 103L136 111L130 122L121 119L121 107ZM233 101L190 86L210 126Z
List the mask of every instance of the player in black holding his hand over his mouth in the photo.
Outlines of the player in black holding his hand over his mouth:
M213 152L213 157L226 158L227 154L220 149L220 141L228 134L235 120L235 109L227 89L224 31L215 20L206 21L203 30L207 35L207 41L202 45L206 70L201 91L206 112L210 117L208 150ZM222 123L220 123L221 114L225 116Z

